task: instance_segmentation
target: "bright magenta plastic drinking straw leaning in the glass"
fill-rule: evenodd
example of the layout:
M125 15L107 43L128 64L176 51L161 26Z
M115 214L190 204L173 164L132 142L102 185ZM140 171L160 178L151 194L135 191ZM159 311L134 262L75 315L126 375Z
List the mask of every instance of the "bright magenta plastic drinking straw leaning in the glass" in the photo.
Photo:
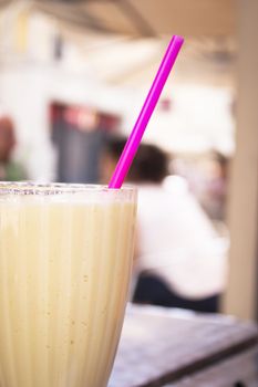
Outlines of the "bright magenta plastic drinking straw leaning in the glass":
M109 188L121 188L183 43L183 38L177 35L172 38L140 116L115 167Z

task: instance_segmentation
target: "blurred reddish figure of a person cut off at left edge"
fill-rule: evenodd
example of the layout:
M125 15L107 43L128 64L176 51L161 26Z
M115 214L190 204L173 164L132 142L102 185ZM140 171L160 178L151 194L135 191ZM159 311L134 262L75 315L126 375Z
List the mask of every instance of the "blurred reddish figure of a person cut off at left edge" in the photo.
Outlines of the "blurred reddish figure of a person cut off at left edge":
M10 117L0 116L0 180L25 179L22 166L12 159L16 147L14 125Z

